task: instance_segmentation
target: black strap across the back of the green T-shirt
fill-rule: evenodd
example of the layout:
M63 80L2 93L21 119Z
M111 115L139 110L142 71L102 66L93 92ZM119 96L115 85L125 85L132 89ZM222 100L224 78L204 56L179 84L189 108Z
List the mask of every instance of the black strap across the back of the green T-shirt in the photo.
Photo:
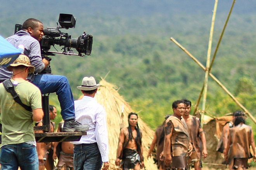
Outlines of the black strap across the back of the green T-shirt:
M22 107L24 107L24 109L26 109L29 112L32 112L32 109L30 106L27 106L25 104L23 104L21 102L21 99L19 98L19 95L17 95L17 93L14 90L14 87L12 85L12 82L10 80L10 78L6 79L5 81L3 81L3 86L5 88L5 90L9 93L11 93L12 98L14 99L15 102L17 102L18 104L20 104Z

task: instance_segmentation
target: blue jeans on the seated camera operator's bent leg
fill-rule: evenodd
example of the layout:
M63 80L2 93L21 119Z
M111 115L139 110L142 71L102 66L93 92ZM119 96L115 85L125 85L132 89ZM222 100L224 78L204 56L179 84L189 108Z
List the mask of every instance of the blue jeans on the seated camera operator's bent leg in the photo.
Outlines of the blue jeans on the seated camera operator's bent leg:
M74 115L74 98L65 76L38 74L33 80L42 94L55 93L61 105L61 116L63 120L72 119Z

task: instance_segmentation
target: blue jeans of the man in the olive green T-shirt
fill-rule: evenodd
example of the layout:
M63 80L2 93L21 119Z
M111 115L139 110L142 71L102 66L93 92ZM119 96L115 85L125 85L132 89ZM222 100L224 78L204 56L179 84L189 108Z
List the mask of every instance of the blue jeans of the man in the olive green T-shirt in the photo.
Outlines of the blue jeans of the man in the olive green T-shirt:
M27 143L5 145L0 152L1 170L38 170L36 147Z

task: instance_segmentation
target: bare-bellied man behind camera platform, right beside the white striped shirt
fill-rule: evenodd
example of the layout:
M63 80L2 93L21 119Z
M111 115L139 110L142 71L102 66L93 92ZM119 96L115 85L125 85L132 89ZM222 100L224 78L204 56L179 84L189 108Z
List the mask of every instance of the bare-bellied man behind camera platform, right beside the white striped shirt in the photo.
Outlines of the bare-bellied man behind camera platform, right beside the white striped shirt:
M57 132L62 132L64 122L59 123ZM54 150L53 150L53 160L57 158L57 152L58 152L58 164L57 164L57 170L66 170L69 168L69 170L74 169L73 165L73 147L74 145L70 142L55 142L54 143ZM59 149L59 150L58 150ZM58 151L57 151L58 150Z

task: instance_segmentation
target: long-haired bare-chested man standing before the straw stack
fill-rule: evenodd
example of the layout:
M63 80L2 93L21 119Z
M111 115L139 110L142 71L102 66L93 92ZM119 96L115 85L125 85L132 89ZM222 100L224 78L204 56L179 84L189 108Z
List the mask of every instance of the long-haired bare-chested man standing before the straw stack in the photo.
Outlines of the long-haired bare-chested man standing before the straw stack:
M144 167L142 133L138 127L138 115L131 112L128 116L129 126L122 128L119 134L116 165L123 170L139 170ZM122 162L120 163L120 160Z

